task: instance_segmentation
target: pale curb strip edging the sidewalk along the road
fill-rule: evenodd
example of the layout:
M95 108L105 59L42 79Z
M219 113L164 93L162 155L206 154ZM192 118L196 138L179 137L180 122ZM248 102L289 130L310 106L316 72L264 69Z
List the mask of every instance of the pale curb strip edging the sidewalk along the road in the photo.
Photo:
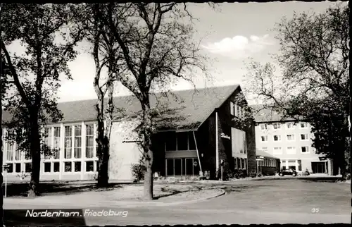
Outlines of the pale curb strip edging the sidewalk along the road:
M177 205L177 204L189 204L189 203L193 203L193 202L201 202L204 200L210 200L212 198L215 197L220 197L222 195L225 195L225 190L222 189L216 189L219 191L219 193L217 193L216 195L211 195L210 197L205 197L205 198L201 198L199 200L189 200L189 201L180 201L180 202L146 202L146 201L109 201L109 202L103 202L100 203L99 202L91 202L91 203L87 203L87 204L75 204L75 202L73 203L68 203L68 202L62 202L62 203L58 203L58 202L50 202L49 200L37 200L36 198L33 199L23 199L23 198L4 198L4 204L6 203L10 203L10 204L33 204L33 205L51 205L51 206L70 206L70 207L97 207L97 204L99 204L99 207L103 207L103 206L133 206L133 207L144 207L144 206L172 206L172 205Z

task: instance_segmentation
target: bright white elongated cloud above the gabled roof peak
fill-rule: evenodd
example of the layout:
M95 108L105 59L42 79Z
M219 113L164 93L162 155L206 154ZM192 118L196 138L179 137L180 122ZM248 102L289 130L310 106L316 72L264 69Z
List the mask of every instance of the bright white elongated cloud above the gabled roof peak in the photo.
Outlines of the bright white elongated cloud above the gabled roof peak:
M266 47L273 44L274 42L270 39L268 34L262 37L251 35L249 38L237 35L232 38L226 37L220 40L220 42L202 45L202 47L213 54L242 59L263 51Z

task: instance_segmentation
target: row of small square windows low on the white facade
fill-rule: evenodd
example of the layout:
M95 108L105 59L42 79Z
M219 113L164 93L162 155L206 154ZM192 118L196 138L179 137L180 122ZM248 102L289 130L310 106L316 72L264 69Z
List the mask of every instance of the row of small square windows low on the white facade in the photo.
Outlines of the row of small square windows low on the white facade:
M94 172L94 162L96 171L99 170L98 161L85 161L85 172ZM64 166L64 172L81 172L82 171L82 161L64 161L62 162ZM44 162L44 173L58 173L60 172L61 162ZM32 171L32 163L24 163L24 169L26 173ZM22 163L8 163L7 172L8 173L21 173Z

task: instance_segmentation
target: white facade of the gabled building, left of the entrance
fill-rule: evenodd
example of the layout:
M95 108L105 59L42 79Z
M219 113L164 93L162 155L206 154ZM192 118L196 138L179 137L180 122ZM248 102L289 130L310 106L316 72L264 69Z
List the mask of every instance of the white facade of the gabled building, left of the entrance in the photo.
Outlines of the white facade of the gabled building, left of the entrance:
M132 180L132 164L141 153L131 128L132 122L113 123L109 160L110 180ZM46 127L46 145L58 148L50 157L41 157L40 180L93 180L97 176L96 122L58 123ZM4 129L4 135L7 133ZM133 140L130 140L134 137ZM8 180L30 179L32 160L4 140L4 164L9 164Z

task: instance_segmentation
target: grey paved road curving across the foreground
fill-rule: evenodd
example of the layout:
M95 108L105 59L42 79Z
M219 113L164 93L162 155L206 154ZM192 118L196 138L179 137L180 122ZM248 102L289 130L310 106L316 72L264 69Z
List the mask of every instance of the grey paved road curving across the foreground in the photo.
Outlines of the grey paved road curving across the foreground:
M71 220L70 223L61 219L57 220L56 225L351 223L349 185L301 181L298 183L296 180L270 181L270 185L263 181L225 185L223 187L227 190L227 195L191 204L167 207L97 206L89 209L128 211L128 214L126 217L85 216L84 219ZM71 206L74 207L75 204ZM58 205L49 204L45 207L4 204L4 208L62 209ZM35 225L36 223L33 223L33 226Z

